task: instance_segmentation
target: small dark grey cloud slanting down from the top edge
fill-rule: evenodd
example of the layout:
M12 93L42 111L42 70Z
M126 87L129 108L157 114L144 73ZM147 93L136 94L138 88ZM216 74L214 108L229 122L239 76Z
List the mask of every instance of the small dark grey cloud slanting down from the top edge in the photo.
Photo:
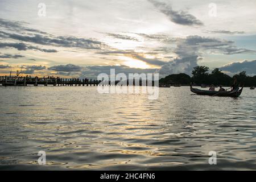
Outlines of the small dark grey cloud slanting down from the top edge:
M185 11L175 11L171 6L168 6L163 2L155 0L148 1L151 2L161 13L165 14L171 22L185 26L203 26L203 22Z

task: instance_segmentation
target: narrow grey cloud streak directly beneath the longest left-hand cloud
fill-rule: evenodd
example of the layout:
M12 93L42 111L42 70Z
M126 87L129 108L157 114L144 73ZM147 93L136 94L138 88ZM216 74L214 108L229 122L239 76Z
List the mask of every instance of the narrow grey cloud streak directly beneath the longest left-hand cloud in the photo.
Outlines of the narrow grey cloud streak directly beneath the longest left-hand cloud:
M42 52L57 52L55 49L43 49L36 46L28 46L24 43L0 43L0 48L13 47L19 51L27 51L28 49L34 49Z

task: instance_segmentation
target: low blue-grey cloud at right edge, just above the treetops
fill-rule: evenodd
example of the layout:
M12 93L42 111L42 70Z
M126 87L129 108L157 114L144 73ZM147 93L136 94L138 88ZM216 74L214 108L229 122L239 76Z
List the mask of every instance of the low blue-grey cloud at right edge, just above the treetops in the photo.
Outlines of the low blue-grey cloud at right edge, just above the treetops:
M247 74L256 74L256 60L253 61L243 61L242 63L232 63L225 65L220 68L222 71L228 71L230 73L238 73L246 71Z

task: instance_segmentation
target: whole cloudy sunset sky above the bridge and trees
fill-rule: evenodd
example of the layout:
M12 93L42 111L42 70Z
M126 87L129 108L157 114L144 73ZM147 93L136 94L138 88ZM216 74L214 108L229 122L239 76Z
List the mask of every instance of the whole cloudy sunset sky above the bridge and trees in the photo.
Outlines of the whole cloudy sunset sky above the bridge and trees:
M254 75L255 7L255 0L0 0L0 75L97 77L115 68L163 77L190 75L197 65Z

